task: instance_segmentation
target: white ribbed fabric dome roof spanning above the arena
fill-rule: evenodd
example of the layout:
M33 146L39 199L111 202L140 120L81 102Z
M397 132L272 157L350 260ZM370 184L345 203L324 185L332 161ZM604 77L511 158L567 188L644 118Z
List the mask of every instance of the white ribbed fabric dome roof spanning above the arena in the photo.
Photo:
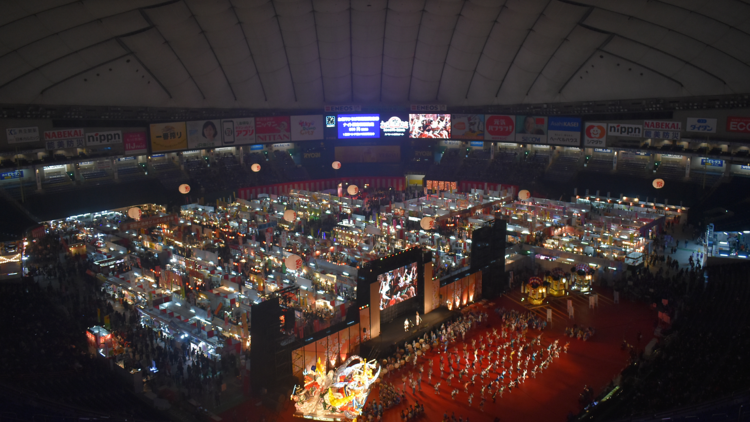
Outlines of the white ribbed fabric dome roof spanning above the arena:
M0 103L8 104L491 105L750 89L750 4L736 0L0 7Z

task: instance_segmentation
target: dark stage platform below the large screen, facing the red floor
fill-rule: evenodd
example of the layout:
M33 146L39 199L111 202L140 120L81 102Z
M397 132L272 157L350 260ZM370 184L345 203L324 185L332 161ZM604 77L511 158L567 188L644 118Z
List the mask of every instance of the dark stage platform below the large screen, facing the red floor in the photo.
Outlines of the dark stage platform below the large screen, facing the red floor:
M404 319L414 323L415 314L407 314L393 321L380 325L380 335L374 339L363 342L360 345L360 356L367 359L377 359L390 356L396 352L396 347L403 347L404 342L411 342L417 337L423 337L436 327L440 327L444 321L460 315L458 310L450 311L441 306L427 315L421 315L422 323L418 327L412 327L408 332L404 331Z

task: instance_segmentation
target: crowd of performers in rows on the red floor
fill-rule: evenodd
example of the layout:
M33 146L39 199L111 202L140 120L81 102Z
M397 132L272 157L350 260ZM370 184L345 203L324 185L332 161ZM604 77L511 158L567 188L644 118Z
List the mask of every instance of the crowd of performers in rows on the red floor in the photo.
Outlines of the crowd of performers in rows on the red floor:
M423 381L436 395L447 395L484 411L485 403L502 399L536 378L567 353L569 343L543 341L546 321L533 312L520 312L497 307L494 312L500 324L488 325L489 314L480 307L442 324L423 338L404 344L394 356L384 360L384 381L380 384L381 400L397 406L406 394L423 391ZM400 382L399 382L400 381ZM385 393L383 393L383 391ZM393 403L396 403L394 405ZM378 405L379 409L380 406ZM386 404L383 409L388 409ZM418 408L418 407L417 407ZM402 411L402 420L418 417L417 412ZM368 413L379 420L379 412ZM456 419L444 415L444 421Z

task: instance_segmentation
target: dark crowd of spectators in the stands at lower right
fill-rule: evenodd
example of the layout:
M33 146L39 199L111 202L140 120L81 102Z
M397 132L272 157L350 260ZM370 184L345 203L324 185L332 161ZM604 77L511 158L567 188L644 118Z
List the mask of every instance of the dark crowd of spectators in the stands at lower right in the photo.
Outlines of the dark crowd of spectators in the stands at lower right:
M623 373L623 384L632 389L624 414L703 403L748 387L748 272L750 265L735 264L708 267L705 276L683 274L684 294L675 300L682 317L663 332L652 359L642 356Z

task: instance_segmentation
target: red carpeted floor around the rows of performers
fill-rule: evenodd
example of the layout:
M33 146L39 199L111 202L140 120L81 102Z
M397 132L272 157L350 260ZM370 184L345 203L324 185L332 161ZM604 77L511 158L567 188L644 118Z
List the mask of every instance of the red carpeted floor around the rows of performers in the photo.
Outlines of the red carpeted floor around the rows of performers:
M640 347L643 348L652 338L653 323L656 320L655 311L651 311L645 304L635 304L621 301L620 304L614 304L611 300L612 293L609 290L600 290L599 307L589 309L588 299L573 297L575 307L575 319L569 320L566 312L565 300L552 301L550 307L553 309L553 321L543 332L542 345L546 347L556 339L560 340L562 346L565 342L570 341L570 349L567 354L561 353L560 358L554 359L550 367L536 378L529 378L519 388L514 388L508 393L506 388L502 398L498 394L496 403L492 403L490 395L486 395L487 400L484 410L480 410L481 401L480 390L481 383L477 377L477 383L474 387L469 387L469 392L474 393L473 405L468 404L468 395L464 393L463 388L452 400L450 392L453 388L458 388L457 375L453 380L453 387L447 385L447 373L443 374L440 379L438 365L440 362L439 355L430 351L427 354L428 359L435 360L434 374L432 382L427 381L428 365L426 360L421 359L420 363L424 364L425 374L422 382L422 391L417 391L416 395L412 394L411 388L407 387L407 404L400 404L384 412L383 421L400 422L401 409L408 408L409 404L416 401L422 403L425 407L425 415L417 420L440 421L443 414L448 413L450 416L455 413L456 417L462 416L464 420L468 417L470 421L493 421L499 417L501 421L525 421L525 422L552 422L565 421L569 412L578 413L580 407L578 404L579 393L583 390L584 385L594 388L595 394L599 392L619 374L625 367L628 355L620 350L622 340L625 339L631 344L639 344L637 335L643 333L643 339L640 341ZM525 310L520 301L520 292L514 292L506 295L493 303L496 307L505 307L506 309ZM475 305L480 306L480 305ZM484 308L490 315L489 326L499 327L500 320L493 312L489 305ZM537 311L540 317L546 317L546 310ZM596 336L584 342L568 338L564 335L565 327L572 326L574 323L584 326L594 327L597 331ZM488 330L487 326L474 329L470 336L467 336L467 342L471 348L470 339L479 333ZM539 332L530 330L527 338L536 336ZM462 349L461 342L457 344ZM451 348L453 345L451 345ZM538 348L535 348L535 350ZM537 363L538 363L537 359ZM486 361L485 361L486 362ZM507 365L507 364L506 364ZM485 365L486 366L486 365ZM515 368L514 368L515 369ZM408 365L405 369L396 371L383 377L383 381L392 383L401 388L401 376L411 370ZM529 371L530 373L531 371ZM514 377L517 376L514 370ZM465 378L464 378L465 379ZM433 384L442 381L440 394L436 395ZM505 385L508 384L506 377ZM485 384L488 381L485 380ZM374 388L370 394L368 402L378 399L378 388ZM256 406L258 400L248 400L247 402L230 409L222 414L225 421L301 421L292 417L293 406L291 401L285 408L276 414ZM235 418L235 415L237 417Z

